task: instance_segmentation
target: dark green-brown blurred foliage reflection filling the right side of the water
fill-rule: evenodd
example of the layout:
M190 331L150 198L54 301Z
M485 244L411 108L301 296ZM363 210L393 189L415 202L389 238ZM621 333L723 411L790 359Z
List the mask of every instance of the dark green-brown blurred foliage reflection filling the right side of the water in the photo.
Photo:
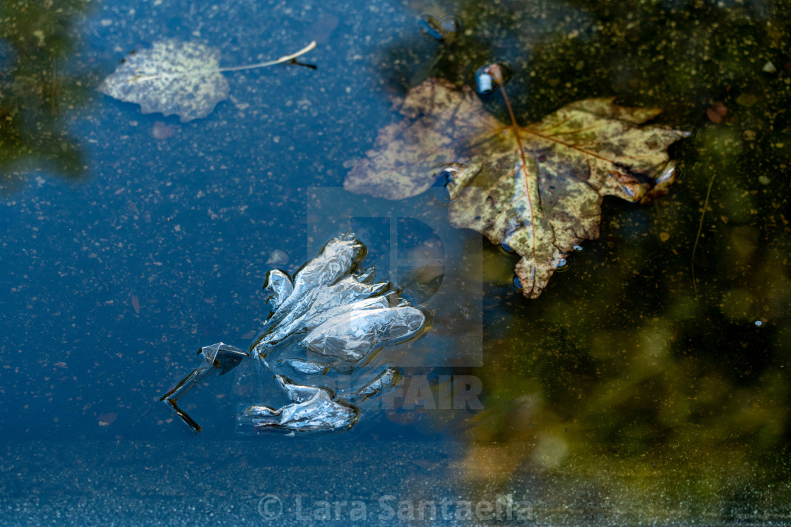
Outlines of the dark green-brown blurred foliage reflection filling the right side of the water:
M600 500L644 507L645 518L679 502L685 518L722 518L724 503L760 506L768 498L755 489L771 485L772 499L789 498L791 5L413 7L454 13L465 30L384 50L393 92L433 76L469 85L480 62L505 58L523 122L615 96L697 130L672 150L683 173L671 194L645 207L605 201L601 239L536 301L509 287L516 259L488 250L485 366L474 372L486 409L467 423L471 488L584 475ZM506 120L500 96L484 100ZM567 498L545 496L547 510Z

